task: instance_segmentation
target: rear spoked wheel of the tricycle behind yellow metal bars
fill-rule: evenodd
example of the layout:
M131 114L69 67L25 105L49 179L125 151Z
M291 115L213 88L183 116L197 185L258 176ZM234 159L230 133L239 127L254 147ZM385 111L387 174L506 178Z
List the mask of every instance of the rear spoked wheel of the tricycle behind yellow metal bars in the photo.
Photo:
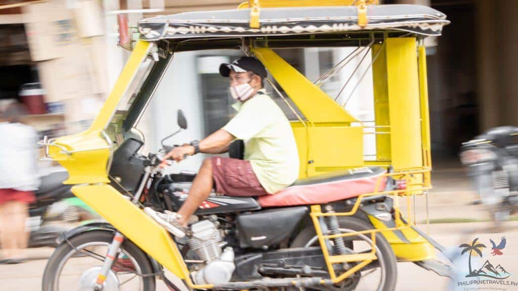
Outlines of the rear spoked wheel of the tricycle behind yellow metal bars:
M362 230L372 229L369 225L361 220L353 217L339 217L338 224L342 232L356 232ZM354 235L343 239L347 248L353 253L368 253L372 251L371 235ZM311 225L300 232L295 238L291 247L302 248L308 246L320 245L316 237L314 227ZM396 257L390 244L378 232L376 234L376 256L377 260L354 273L349 278L343 280L334 286L325 287L321 289L326 290L377 290L377 291L392 291L396 287L397 267ZM349 263L353 266L354 263ZM335 266L338 266L336 264ZM340 272L335 268L337 275Z

